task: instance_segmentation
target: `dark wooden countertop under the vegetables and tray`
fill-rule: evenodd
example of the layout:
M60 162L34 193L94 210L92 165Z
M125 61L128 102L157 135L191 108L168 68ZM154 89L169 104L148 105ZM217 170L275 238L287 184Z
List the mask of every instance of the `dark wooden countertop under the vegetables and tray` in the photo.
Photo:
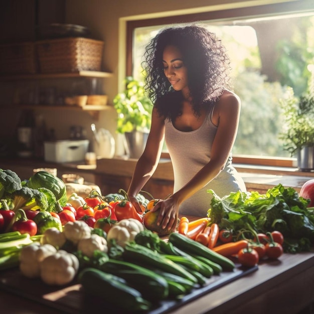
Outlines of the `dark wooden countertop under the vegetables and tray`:
M29 287L32 289L32 286ZM171 311L172 314L296 314L314 302L314 253L283 254L259 269ZM56 314L35 301L0 291L2 314ZM90 311L93 310L92 306ZM310 313L310 312L308 312Z

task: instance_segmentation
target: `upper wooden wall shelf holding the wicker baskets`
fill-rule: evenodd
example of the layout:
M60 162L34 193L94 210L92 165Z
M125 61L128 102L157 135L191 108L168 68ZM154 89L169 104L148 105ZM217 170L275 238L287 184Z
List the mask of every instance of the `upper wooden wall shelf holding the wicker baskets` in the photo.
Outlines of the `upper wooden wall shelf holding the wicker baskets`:
M79 71L71 73L38 73L38 74L17 74L17 75L1 75L0 80L36 80L36 79L53 79L53 78L75 78L75 77L91 77L91 78L107 78L112 73L100 71Z

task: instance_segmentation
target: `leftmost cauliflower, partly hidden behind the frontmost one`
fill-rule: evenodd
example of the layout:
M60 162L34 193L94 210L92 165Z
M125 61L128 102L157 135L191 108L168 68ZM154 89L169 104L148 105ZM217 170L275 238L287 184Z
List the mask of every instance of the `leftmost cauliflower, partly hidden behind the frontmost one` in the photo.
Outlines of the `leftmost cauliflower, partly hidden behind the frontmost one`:
M57 249L51 244L41 245L33 242L24 246L20 254L20 270L23 275L29 278L40 276L40 264L48 256L56 254Z

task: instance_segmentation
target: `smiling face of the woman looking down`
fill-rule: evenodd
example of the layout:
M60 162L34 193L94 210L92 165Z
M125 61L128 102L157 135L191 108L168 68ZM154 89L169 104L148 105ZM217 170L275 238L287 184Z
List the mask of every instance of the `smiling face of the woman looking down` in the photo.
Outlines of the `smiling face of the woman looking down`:
M163 53L164 73L174 90L188 91L188 71L179 49L167 46Z

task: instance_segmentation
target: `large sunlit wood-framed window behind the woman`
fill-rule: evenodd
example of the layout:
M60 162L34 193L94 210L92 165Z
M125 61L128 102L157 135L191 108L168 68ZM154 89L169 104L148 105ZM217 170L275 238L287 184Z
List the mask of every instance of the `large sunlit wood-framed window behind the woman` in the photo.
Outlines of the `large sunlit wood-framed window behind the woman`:
M292 166L294 159L280 140L279 99L286 86L300 95L313 80L314 40L310 34L314 33L314 5L308 4L297 1L181 16L180 20L173 17L171 21L161 18L129 22L128 34L132 34L133 44L128 47L131 58L127 74L142 79L143 49L161 28L176 23L176 19L178 23L202 21L228 50L234 91L242 102L233 148L235 162L238 156L240 163Z

